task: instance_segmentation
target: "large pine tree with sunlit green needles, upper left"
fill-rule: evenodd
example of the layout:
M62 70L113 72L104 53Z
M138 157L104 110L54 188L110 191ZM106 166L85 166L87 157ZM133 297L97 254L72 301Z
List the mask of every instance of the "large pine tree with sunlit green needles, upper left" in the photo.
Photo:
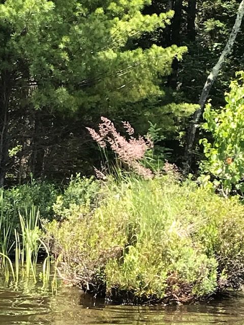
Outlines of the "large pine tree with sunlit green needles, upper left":
M8 150L17 143L18 119L27 120L28 127L31 123L26 108L92 118L164 95L162 78L187 49L136 45L144 33L164 28L173 17L172 11L143 15L149 4L7 0L0 5L0 186Z

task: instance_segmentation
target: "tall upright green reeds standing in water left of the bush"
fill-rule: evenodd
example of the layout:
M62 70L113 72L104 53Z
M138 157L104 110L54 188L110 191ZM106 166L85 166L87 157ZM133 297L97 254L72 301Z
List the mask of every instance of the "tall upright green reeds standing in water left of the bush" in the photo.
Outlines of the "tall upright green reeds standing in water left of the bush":
M3 192L0 200L4 200ZM4 206L2 204L2 206ZM13 222L5 219L3 210L0 216L0 257L3 274L6 282L12 279L18 284L21 280L37 283L38 277L42 280L43 288L47 288L50 278L51 258L47 246L42 240L40 230L40 212L36 206L25 208L25 213L19 213L20 230L13 226ZM10 238L14 234L14 242ZM46 257L43 262L42 273L37 274L37 263L40 252ZM14 262L14 263L13 263Z

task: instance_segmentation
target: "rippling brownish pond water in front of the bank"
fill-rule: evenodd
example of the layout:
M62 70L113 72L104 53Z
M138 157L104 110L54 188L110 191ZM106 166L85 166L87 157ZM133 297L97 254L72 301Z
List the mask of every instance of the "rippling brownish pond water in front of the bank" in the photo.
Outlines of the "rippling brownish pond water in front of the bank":
M75 287L57 295L31 284L16 288L0 281L0 324L244 324L244 294L184 306L113 306L84 297Z

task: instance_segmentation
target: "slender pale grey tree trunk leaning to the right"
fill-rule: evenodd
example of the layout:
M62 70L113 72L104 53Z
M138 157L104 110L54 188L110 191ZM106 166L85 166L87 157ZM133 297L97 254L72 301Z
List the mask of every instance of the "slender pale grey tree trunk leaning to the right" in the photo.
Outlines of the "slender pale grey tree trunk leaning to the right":
M211 73L207 77L205 85L202 89L200 100L199 100L200 108L195 112L195 114L193 116L193 120L191 122L189 133L188 133L187 146L186 146L185 159L184 159L185 160L185 168L184 168L185 172L189 172L189 169L191 167L193 146L194 146L195 137L196 137L196 129L197 129L199 120L202 116L203 109L204 109L209 91L210 91L212 85L214 84L215 80L217 79L220 69L221 69L223 63L225 62L226 57L229 55L229 53L231 52L231 50L233 48L233 44L235 42L236 36L238 34L238 31L240 30L243 15L244 15L244 0L242 0L239 5L235 24L232 28L229 40L220 56L218 62L216 63L214 68L212 68Z

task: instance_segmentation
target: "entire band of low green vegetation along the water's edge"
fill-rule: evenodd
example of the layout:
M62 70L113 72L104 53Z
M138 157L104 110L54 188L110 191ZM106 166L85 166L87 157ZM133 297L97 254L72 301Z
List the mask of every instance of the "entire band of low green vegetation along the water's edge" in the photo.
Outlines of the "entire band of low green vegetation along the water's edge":
M1 266L6 279L48 286L50 254L66 282L123 303L191 302L238 289L244 278L244 209L209 185L132 173L71 179L1 193Z

